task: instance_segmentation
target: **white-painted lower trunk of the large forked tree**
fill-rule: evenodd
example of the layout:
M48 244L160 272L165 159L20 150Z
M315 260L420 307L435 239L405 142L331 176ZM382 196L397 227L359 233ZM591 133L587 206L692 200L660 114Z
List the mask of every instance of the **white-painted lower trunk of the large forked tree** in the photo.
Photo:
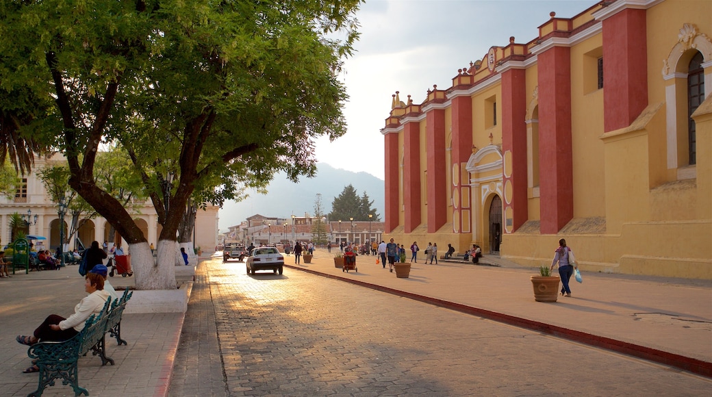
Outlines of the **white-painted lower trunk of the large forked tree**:
M182 256L176 241L159 240L154 261L150 245L145 243L130 244L131 268L136 277L137 290L175 290L177 260L182 263Z

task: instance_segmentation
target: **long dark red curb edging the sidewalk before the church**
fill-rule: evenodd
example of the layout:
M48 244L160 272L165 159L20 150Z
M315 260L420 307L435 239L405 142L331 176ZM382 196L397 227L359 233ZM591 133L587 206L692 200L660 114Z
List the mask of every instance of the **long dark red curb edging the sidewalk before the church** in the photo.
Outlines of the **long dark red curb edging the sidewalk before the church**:
M359 280L353 280L347 277L340 277L338 275L330 275L328 273L319 272L317 270L311 270L306 268L300 268L294 265L288 265L285 263L287 268L301 270L303 272L308 272L313 275L320 275L322 277L331 278L333 280L350 282L354 285L360 285L361 287L367 287L372 290L377 290L381 292L387 292L392 295L397 295L399 297L407 297L412 300L417 300L419 302L428 303L431 305L445 307L446 309L455 310L457 312L463 312L466 314L473 314L479 317L484 317L486 319L491 319L496 322L502 322L504 324L513 325L515 327L521 327L525 329L530 329L537 332L542 332L544 334L550 334L554 337L563 337L565 339L570 339L575 342L582 344L587 344L590 346L599 347L601 349L606 349L609 351L614 351L621 354L627 354L629 356L634 356L639 359L644 359L648 361L653 361L658 364L664 364L666 366L672 366L683 371L689 371L693 374L706 376L707 378L712 378L712 363L707 361L701 361L698 359L693 359L691 357L682 356L680 354L670 353L669 351L662 351L659 349L652 349L650 347L641 346L639 344L632 344L629 342L622 342L617 339L611 339L607 337L600 337L594 334L589 334L587 332L575 331L573 329L567 329L564 327L558 327L551 324L545 324L543 322L536 322L530 319L525 319L522 317L515 317L509 314L503 314L498 312L492 312L491 310L480 309L478 307L472 307L467 305L461 305L454 302L449 302L446 300L440 300L433 297L427 297L425 295L418 295L412 292L405 292L401 290L396 290L390 287L384 287L382 285L372 284L370 282L363 282Z

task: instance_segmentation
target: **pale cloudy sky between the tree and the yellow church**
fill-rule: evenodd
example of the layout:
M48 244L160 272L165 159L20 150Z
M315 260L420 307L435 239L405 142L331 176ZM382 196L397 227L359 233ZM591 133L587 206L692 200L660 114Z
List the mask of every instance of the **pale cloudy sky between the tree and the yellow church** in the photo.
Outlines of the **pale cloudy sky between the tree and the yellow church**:
M536 38L551 11L571 18L596 3L367 0L356 14L361 25L356 52L345 60L341 76L349 95L344 107L347 133L335 142L318 139L317 161L384 179L380 130L396 91L403 102L411 95L414 103L422 103L429 88L450 88L457 70L484 58L491 46L506 46L510 36L515 43Z

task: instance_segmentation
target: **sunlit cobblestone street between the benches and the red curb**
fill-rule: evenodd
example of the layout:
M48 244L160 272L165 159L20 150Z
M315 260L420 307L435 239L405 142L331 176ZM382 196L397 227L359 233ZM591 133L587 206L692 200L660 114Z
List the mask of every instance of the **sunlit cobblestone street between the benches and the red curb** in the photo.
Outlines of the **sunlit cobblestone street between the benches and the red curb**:
M201 263L172 396L703 395L709 379L286 269Z

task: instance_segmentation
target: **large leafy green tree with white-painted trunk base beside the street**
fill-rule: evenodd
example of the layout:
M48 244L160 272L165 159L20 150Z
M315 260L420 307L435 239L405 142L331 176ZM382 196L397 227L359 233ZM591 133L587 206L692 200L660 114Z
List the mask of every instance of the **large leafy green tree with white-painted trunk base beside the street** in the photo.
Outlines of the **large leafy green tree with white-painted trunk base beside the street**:
M70 186L129 243L137 289L174 289L189 198L221 203L278 171L313 176L315 139L345 133L337 73L359 3L6 3L0 89L29 95L0 112L28 115L20 124L65 154ZM100 144L114 142L163 226L155 265L130 213L95 180Z

